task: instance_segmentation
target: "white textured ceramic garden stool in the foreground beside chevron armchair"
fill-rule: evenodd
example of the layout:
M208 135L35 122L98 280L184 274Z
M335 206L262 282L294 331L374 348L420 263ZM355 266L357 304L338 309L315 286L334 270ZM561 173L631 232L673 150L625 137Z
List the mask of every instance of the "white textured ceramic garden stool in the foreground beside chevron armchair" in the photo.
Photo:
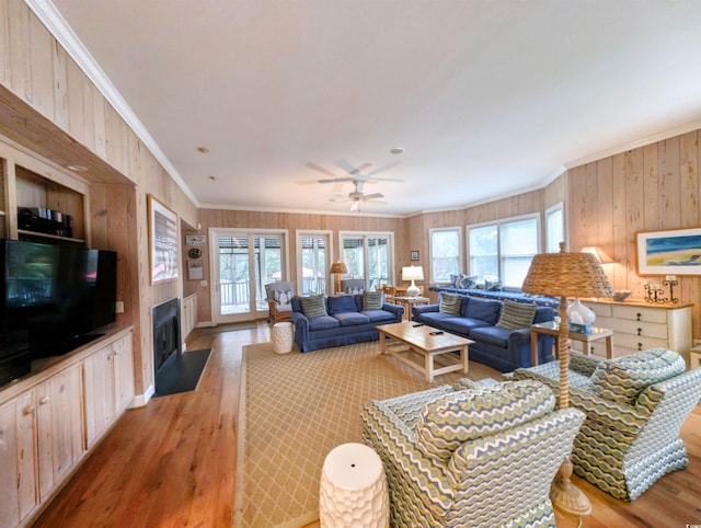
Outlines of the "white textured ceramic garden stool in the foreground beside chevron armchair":
M390 525L384 467L364 444L342 444L326 455L319 491L322 528L387 528Z

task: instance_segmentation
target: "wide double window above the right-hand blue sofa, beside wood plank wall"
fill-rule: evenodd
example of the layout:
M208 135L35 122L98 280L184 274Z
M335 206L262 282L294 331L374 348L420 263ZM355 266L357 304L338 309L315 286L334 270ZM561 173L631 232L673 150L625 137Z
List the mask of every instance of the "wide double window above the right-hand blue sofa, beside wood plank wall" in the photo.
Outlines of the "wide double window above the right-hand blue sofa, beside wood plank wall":
M469 274L520 288L539 251L538 232L537 215L468 228Z

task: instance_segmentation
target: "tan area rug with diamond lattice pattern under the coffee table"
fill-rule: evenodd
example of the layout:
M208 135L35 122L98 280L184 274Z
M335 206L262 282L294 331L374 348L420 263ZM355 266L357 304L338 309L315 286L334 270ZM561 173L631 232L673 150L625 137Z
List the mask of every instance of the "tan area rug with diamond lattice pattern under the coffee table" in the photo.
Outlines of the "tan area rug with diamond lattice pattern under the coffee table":
M377 342L307 354L275 354L272 343L245 346L234 527L314 521L323 461L340 444L363 441L366 401L464 376L451 372L428 383L417 370L379 354Z

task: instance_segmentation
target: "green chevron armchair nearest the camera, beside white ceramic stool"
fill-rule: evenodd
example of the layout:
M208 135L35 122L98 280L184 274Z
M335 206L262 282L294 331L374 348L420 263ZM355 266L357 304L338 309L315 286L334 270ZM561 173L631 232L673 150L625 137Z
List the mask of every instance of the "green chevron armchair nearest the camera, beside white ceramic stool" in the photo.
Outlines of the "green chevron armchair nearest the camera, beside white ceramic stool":
M533 381L444 386L361 411L395 527L555 526L550 484L584 415Z

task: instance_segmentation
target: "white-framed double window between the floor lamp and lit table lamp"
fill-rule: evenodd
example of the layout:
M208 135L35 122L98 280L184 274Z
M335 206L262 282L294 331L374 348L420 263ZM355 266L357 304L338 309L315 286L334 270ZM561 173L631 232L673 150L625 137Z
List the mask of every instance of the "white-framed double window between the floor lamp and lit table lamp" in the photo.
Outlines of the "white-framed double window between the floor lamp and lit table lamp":
M393 279L392 233L341 233L341 260L348 266L347 278L365 278L368 288Z

